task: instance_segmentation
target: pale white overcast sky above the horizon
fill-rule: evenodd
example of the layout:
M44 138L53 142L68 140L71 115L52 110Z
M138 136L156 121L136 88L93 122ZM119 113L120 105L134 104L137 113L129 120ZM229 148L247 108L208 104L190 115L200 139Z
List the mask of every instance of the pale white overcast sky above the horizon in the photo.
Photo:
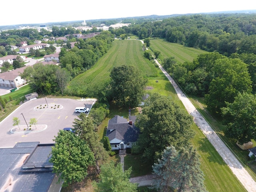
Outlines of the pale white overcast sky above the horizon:
M229 10L256 10L256 1L3 0L0 9L0 26Z

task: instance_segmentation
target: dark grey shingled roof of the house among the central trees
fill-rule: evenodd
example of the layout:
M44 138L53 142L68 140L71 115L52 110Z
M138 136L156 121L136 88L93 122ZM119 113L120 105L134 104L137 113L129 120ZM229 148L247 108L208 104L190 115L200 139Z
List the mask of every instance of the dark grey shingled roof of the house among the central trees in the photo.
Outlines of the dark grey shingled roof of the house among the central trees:
M136 116L130 116L129 120L135 121ZM108 121L106 136L110 141L116 138L126 143L136 142L139 132L140 130L134 124L131 125L125 118L116 115Z

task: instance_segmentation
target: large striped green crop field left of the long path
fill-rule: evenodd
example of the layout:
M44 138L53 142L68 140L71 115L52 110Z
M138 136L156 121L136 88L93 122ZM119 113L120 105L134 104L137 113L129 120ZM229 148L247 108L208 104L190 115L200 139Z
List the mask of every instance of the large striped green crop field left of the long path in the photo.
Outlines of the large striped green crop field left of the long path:
M115 40L112 48L88 71L78 75L70 82L72 87L90 84L94 86L110 79L113 67L132 65L142 72L143 76L158 76L158 70L148 59L144 58L142 43L138 40Z

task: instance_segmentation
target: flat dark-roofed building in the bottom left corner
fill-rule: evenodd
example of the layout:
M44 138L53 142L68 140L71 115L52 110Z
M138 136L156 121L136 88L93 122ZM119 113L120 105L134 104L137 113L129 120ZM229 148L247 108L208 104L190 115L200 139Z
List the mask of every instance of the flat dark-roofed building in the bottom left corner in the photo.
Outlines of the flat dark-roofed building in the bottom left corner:
M59 192L62 182L49 162L54 144L17 142L0 148L0 191Z

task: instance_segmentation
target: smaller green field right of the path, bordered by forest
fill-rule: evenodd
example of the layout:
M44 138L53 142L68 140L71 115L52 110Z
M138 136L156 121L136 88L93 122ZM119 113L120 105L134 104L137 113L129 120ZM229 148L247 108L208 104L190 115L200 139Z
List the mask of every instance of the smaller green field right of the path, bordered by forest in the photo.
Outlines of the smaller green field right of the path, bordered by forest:
M205 53L206 51L186 47L177 43L170 43L163 39L151 39L150 49L152 51L159 50L161 53L159 55L159 62L161 63L164 58L174 57L177 62L184 63L186 61L191 62L198 54Z

